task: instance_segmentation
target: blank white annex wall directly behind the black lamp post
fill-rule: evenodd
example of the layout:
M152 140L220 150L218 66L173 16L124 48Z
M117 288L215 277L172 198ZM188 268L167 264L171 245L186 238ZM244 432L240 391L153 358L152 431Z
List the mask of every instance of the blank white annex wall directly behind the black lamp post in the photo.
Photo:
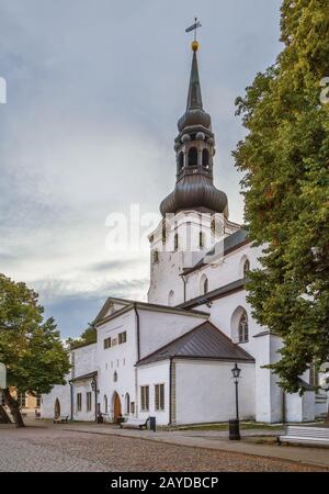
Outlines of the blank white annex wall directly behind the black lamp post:
M175 423L224 422L236 416L234 362L178 360L175 362ZM254 418L254 366L240 363L240 418Z

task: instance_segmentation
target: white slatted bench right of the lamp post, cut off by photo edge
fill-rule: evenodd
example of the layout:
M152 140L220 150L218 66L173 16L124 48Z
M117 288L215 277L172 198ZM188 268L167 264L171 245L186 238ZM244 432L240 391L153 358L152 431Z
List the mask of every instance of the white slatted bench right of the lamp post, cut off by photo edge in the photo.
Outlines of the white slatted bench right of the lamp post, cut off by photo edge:
M284 436L277 437L277 444L296 442L318 446L329 446L329 428L287 426Z

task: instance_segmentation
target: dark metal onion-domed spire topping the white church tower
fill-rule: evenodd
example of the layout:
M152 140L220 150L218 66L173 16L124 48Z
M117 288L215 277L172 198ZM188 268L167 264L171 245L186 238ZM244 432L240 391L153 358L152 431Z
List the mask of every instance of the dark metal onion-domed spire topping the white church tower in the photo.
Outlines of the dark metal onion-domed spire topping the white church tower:
M173 192L161 202L160 211L162 216L182 210L197 210L224 213L228 217L227 197L213 183L215 137L211 115L203 109L197 49L198 43L194 40L186 111L178 121L179 135L174 141L177 183Z

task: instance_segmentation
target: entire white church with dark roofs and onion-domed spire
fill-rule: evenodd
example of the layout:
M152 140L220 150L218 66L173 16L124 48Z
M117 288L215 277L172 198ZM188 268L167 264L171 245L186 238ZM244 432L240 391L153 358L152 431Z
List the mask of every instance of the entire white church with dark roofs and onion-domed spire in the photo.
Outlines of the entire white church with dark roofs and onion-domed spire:
M149 236L148 302L107 299L94 318L97 343L71 350L67 384L42 396L44 418L225 422L236 415L236 363L240 419L304 422L327 413L313 369L300 378L306 392L299 396L284 393L263 368L279 359L282 341L256 323L246 301L245 280L262 249L229 221L227 197L213 183L215 137L203 109L197 47L193 42L188 104L174 141L175 187Z

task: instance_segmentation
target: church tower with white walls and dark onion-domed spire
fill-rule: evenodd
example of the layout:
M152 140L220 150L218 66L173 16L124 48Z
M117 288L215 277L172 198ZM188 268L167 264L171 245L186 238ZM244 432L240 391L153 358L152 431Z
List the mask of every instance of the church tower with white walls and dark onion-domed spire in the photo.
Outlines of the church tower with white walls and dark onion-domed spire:
M186 110L178 121L174 139L175 187L161 202L162 221L149 236L148 301L163 305L185 301L183 270L237 229L228 221L227 197L213 181L215 136L211 115L203 108L197 49L194 40Z

